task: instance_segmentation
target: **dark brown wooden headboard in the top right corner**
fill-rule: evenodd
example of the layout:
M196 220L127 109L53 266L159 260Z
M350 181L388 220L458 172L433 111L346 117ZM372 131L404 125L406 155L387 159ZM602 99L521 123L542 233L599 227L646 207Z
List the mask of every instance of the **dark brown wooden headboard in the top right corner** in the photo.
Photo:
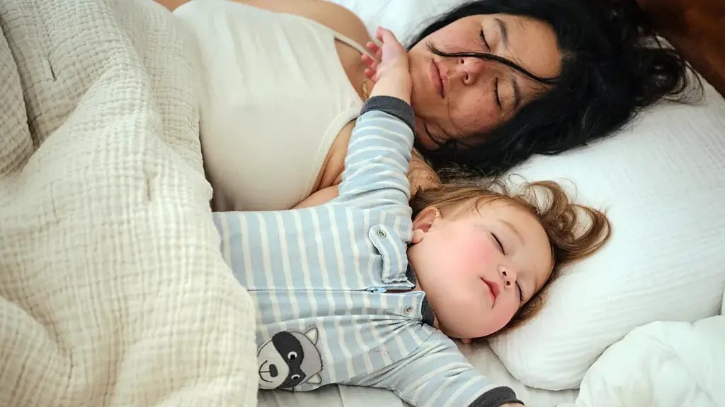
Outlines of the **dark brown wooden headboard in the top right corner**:
M725 96L725 0L637 0L660 35Z

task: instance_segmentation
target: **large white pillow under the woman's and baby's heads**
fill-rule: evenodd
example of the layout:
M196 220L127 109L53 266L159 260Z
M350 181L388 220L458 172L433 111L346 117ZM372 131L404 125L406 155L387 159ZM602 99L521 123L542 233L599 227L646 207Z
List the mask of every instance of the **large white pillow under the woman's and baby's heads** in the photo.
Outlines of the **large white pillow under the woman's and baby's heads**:
M370 32L408 35L460 0L336 0ZM547 306L491 340L514 377L549 390L579 387L609 345L655 320L718 314L725 288L725 101L705 83L697 106L662 103L617 135L515 173L566 180L608 209L613 237L552 285ZM569 184L571 185L571 182Z

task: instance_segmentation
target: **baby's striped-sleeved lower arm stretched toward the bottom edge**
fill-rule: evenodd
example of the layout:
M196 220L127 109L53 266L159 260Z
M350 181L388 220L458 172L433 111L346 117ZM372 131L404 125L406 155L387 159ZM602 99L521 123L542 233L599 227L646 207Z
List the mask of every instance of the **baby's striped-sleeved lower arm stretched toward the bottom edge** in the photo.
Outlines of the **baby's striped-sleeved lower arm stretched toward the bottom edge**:
M415 407L522 405L510 387L494 385L439 332L402 361L349 384L392 390Z

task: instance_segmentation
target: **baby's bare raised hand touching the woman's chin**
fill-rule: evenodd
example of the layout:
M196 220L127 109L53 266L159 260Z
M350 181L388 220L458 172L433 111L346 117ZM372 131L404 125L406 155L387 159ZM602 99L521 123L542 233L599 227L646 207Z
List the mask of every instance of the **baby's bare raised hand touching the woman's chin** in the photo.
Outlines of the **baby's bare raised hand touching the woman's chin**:
M368 66L365 75L376 83L370 96L394 96L410 104L413 80L410 77L407 52L390 30L378 28L377 37L382 46L372 41L365 44L377 61L368 55L361 57Z

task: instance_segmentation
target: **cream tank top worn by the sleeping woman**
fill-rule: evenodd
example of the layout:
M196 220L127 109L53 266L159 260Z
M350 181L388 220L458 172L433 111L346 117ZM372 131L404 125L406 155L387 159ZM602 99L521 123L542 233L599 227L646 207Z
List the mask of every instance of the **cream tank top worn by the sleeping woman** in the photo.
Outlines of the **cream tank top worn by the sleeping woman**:
M173 14L194 55L213 209L289 209L307 198L363 106L335 41L367 51L305 17L228 0L189 1Z

